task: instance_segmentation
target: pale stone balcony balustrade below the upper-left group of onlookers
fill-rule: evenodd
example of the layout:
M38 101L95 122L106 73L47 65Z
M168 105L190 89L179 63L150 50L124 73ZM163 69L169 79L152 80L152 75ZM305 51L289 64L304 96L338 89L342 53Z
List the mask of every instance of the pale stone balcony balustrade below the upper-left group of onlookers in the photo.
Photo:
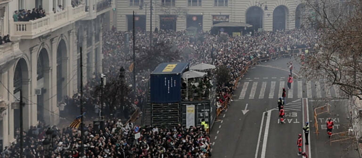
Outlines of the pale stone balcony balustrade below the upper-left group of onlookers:
M75 8L68 7L66 10L51 14L43 18L35 19L26 22L11 22L10 35L11 36L36 36L42 32L47 32L53 28L65 25L70 21L77 20L84 16L85 6L79 5Z

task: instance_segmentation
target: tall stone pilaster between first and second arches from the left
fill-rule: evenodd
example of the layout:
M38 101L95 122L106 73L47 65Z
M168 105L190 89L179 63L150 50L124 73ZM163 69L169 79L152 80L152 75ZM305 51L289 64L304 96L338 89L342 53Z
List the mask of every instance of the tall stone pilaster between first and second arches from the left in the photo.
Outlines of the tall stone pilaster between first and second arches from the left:
M31 117L33 118L31 120L31 124L32 125L36 125L38 124L38 110L37 110L37 95L35 95L35 89L37 88L37 55L38 55L38 46L35 47L31 47L29 48L29 52L30 52L30 67L29 67L29 71L30 71L30 96L29 96L29 100L31 100L32 104L35 104L34 106L29 106L29 111L31 113Z

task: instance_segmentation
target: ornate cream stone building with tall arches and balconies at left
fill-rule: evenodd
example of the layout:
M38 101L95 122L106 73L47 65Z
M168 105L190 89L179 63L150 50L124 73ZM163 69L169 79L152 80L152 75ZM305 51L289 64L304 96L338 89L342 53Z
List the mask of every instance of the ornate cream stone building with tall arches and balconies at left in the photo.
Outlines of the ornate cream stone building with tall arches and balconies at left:
M39 120L58 124L58 102L78 91L80 62L84 84L101 73L102 30L110 27L113 5L113 0L0 1L0 36L9 34L12 41L0 45L0 148L14 141L20 127L20 90L25 130ZM46 16L14 22L15 10L35 7Z

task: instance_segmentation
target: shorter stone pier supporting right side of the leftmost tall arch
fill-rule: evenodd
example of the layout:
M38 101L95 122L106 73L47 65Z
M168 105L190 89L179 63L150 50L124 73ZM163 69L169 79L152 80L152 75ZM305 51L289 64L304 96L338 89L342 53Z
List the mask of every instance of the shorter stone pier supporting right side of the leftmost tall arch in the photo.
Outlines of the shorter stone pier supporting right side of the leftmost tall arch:
M33 107L36 105L34 105L32 102L30 102L30 83L31 80L30 79L22 79L22 85L21 85L21 89L22 89L22 93L23 93L23 97L27 98L27 99L23 99L24 102L24 106L23 106L23 128L24 130L28 130L29 127L33 122L33 119L37 120L37 116L32 115L33 113ZM29 99L29 100L28 100ZM36 110L36 109L35 109Z

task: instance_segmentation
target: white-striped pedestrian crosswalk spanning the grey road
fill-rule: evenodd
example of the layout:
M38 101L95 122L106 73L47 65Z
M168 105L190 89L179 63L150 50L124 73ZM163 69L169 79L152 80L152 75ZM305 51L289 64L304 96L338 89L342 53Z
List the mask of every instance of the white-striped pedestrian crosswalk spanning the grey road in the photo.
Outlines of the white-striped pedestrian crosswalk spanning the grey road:
M279 98L282 96L283 87L286 87L286 98L324 98L340 97L337 86L328 85L325 80L305 81L294 80L291 89L288 89L285 80L279 81L249 81L240 82L241 92L239 99Z

